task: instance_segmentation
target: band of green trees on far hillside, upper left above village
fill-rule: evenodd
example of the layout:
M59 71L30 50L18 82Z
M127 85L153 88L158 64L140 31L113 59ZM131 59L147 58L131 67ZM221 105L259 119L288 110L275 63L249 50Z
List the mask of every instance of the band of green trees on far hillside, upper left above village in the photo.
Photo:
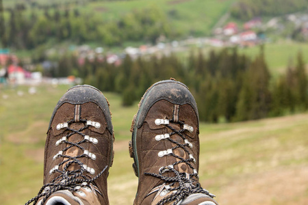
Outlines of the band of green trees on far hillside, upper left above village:
M156 7L133 10L117 20L99 14L81 14L77 8L26 10L21 5L5 10L1 21L1 43L12 49L35 49L42 44L63 41L73 44L98 42L119 46L127 41L154 43L159 36L175 37L162 10Z

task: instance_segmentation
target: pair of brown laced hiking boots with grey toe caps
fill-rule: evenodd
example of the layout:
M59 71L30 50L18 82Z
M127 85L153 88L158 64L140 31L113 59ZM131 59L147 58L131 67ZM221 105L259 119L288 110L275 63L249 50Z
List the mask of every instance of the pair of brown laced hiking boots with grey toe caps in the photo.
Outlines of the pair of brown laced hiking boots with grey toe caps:
M188 87L159 81L142 97L129 153L139 178L133 204L215 205L198 182L198 110ZM109 204L114 132L109 103L90 85L70 88L53 111L44 152L44 185L26 204Z

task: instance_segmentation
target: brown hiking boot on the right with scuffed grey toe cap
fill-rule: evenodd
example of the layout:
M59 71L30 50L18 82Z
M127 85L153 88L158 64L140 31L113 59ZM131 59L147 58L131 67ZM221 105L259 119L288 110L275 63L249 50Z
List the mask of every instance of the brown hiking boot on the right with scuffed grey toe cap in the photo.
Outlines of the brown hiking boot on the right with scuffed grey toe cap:
M134 204L215 205L198 182L198 110L188 87L159 81L142 97L129 152L139 178Z

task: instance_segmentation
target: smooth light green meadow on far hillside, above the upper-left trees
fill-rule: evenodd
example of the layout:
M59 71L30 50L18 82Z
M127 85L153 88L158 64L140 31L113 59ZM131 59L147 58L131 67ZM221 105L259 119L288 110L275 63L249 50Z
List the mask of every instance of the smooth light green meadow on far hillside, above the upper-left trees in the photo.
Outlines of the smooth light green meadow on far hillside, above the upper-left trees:
M131 1L99 1L91 2L86 6L77 5L81 14L95 14L105 20L118 20L121 16L133 10L155 7L162 10L168 17L168 23L173 30L184 33L184 36L194 34L195 36L205 36L211 28L235 0L131 0ZM44 5L49 4L46 0L36 2ZM59 1L56 1L59 2ZM10 8L15 3L21 1L3 0L3 7ZM63 3L64 5L64 3ZM43 12L40 12L43 14Z

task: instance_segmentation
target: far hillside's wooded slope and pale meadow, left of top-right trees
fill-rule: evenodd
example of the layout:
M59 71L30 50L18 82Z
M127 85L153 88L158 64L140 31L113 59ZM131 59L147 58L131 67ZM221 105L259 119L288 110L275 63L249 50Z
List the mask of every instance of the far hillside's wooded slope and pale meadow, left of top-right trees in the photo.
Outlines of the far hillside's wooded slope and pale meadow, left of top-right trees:
M168 40L206 36L232 2L3 1L5 21L0 40L3 46L18 51L63 42L123 46L126 42L155 43L160 36Z

